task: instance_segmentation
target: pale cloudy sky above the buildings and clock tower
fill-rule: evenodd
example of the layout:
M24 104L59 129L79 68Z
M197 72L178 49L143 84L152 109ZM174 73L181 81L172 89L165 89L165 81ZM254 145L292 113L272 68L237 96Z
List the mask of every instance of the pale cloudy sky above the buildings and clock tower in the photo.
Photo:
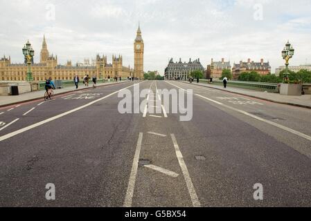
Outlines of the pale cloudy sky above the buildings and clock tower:
M27 39L36 52L45 34L59 63L105 54L123 55L134 65L133 43L139 21L145 41L145 71L163 70L172 57L269 60L283 65L287 39L296 55L292 65L311 64L310 0L0 0L0 55L23 61Z

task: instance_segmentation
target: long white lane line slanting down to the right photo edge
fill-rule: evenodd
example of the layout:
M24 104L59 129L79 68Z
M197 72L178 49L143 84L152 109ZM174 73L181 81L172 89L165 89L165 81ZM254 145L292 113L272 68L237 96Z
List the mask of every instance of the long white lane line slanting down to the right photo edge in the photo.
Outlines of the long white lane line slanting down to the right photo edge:
M168 84L170 84L170 83L168 83ZM172 84L172 86L175 86L175 85ZM179 88L178 86L175 86L175 87ZM182 89L182 88L181 88L181 89ZM213 103L215 103L215 104L219 104L219 105L221 105L221 106L224 106L225 108L231 109L231 110L233 110L233 111L237 111L237 112L242 113L242 114L244 114L244 115L247 115L247 116L249 116L249 117L253 117L254 119L258 119L258 120L261 121L261 122L265 122L265 123L270 124L270 125L272 125L272 126L276 126L277 128L281 128L281 129L284 130L284 131L293 133L294 135L298 135L299 137L303 137L303 138L305 138L306 140L310 140L310 141L311 141L311 136L306 135L306 134L304 134L304 133L301 133L301 132L299 132L299 131L295 131L295 130L293 130L292 128L288 128L288 127L283 126L283 125L281 125L281 124L277 124L277 123L275 123L275 122L271 122L271 121L269 121L269 120L267 120L267 119L263 119L263 118L258 117L258 116L256 116L256 115L252 115L252 114L250 114L250 113L247 113L246 111L241 111L241 110L239 110L239 109L237 109L237 108L233 108L233 107L231 107L231 106L227 106L226 104L222 104L222 103L220 103L220 102L216 102L215 100L209 99L208 97L204 97L204 96L198 95L198 94L195 94L195 95L196 95L197 97L201 97L201 98L203 98L203 99L207 99L207 100L210 101L210 102L213 102Z

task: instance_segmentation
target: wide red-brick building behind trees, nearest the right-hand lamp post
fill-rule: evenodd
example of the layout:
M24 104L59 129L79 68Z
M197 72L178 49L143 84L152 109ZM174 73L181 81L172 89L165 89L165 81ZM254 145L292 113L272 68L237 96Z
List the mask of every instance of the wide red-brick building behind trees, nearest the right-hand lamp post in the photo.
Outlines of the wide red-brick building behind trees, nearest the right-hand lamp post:
M260 59L260 62L254 62L251 59L248 59L247 62L240 61L240 64L233 64L233 79L238 79L241 73L251 71L256 71L259 75L269 75L271 73L271 66L269 61L264 62L263 59Z

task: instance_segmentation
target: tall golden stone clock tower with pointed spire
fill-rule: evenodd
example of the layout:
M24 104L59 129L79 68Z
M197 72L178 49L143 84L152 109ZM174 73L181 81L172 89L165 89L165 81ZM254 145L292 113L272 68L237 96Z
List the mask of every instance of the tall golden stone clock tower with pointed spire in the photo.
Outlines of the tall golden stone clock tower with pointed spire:
M141 37L141 27L139 26L134 41L134 77L143 78L143 51L144 44Z

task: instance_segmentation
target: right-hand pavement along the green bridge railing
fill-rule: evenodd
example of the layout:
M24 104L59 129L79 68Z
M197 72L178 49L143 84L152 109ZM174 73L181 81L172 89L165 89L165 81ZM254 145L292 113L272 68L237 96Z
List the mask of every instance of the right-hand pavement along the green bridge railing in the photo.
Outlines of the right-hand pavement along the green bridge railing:
M180 82L190 84L189 82L186 82L186 81L180 81ZM267 92L258 91L258 90L235 88L231 86L229 87L227 86L227 88L224 88L223 86L215 85L215 84L206 84L206 83L197 84L196 82L193 82L192 84L199 85L199 86L205 86L207 88L214 88L217 90L224 90L230 93L236 93L238 95L247 95L249 97L264 99L266 101L274 102L278 104L288 104L288 105L293 105L293 106L300 106L303 108L311 108L311 95L287 96L287 95L280 95L278 93L267 93Z

